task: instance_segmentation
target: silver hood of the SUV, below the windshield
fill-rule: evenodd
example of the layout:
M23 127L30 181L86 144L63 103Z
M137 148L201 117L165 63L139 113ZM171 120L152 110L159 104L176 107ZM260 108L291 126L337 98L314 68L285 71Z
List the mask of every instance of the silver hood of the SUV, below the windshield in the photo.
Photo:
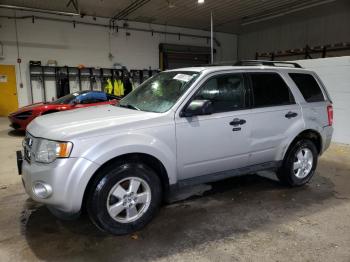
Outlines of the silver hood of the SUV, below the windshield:
M158 113L143 112L112 105L85 107L40 116L27 131L35 137L69 140L116 132L116 128L133 128L136 121L148 121ZM139 126L139 125L138 125Z

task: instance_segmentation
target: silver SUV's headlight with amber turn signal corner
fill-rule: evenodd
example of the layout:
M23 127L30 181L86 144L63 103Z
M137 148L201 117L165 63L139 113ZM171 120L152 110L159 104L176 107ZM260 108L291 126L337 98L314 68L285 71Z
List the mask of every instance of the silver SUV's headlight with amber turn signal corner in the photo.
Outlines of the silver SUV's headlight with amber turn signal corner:
M57 142L46 139L39 139L35 154L35 161L42 163L51 163L56 158L69 157L73 148L71 142Z

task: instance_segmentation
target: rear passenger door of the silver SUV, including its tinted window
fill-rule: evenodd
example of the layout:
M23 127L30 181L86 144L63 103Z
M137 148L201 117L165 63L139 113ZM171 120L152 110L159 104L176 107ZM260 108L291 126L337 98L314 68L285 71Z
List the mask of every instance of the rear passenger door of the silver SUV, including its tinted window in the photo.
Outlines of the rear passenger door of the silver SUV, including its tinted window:
M249 164L282 160L281 156L304 126L300 105L282 75L249 72L252 99Z

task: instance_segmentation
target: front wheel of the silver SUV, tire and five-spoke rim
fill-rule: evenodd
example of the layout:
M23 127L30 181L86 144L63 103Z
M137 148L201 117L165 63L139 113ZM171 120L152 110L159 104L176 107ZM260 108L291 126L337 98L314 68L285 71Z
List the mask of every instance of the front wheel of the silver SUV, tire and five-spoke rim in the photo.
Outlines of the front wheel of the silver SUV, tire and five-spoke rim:
M159 210L161 199L162 186L154 170L128 162L98 175L90 188L87 212L99 229L125 235L146 226Z

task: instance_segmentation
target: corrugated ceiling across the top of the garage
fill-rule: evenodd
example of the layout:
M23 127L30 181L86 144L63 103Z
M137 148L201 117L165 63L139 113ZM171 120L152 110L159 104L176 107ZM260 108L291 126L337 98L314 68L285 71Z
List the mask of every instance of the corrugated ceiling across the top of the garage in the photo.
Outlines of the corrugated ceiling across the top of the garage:
M76 12L72 4L66 6L69 1L0 0L0 4ZM140 0L77 1L80 13L111 18L131 3ZM342 5L349 7L350 2L348 0L205 0L204 4L198 4L197 0L143 1L144 5L123 17L123 20L209 30L210 13L213 12L215 31L227 33L240 33L254 28L258 24L255 23L256 20L259 19L262 19L260 24L276 23L281 19L300 20L310 15L321 15L343 9ZM318 5L320 2L325 3ZM294 11L289 12L290 10ZM285 14L276 15L281 13ZM249 21L255 22L245 26L244 24L247 22L249 24Z

